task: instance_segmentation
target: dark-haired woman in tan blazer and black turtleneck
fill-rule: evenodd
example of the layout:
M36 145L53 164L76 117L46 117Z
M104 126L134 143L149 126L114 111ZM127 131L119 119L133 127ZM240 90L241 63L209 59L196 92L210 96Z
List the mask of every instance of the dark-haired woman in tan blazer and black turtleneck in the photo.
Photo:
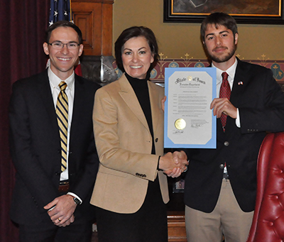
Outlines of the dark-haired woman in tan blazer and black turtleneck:
M115 43L124 75L99 89L94 101L94 136L99 172L91 204L97 207L99 242L168 241L167 175L187 165L163 156L164 89L148 79L158 45L146 27L131 27ZM178 168L177 168L178 167Z

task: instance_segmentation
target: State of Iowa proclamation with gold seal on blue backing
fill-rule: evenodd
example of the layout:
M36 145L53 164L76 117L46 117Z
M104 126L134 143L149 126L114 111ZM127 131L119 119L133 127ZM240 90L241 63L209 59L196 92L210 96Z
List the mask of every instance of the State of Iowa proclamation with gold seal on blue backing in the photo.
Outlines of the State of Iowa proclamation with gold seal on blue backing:
M216 148L216 68L165 68L165 148Z

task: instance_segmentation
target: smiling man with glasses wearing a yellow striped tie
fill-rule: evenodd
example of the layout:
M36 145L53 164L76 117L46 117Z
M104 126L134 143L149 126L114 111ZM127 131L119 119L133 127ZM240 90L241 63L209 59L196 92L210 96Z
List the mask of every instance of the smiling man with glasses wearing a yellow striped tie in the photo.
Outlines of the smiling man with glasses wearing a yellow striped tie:
M74 73L83 51L75 24L50 26L43 50L50 57L48 70L13 84L11 219L19 225L20 241L90 241L89 199L99 164L92 128L98 86Z

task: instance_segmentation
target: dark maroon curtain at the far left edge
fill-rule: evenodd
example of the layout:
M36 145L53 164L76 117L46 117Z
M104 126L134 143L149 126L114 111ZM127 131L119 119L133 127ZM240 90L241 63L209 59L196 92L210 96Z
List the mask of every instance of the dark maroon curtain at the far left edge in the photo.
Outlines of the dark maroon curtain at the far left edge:
M18 241L9 218L14 168L9 154L11 85L45 68L43 53L50 0L0 0L0 241Z

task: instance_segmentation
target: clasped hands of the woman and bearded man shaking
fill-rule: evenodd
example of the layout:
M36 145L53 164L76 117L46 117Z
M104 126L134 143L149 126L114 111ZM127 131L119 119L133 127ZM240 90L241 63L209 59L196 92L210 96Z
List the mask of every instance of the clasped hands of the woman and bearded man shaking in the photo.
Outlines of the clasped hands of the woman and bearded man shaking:
M166 153L160 157L159 170L163 170L168 177L179 177L182 172L187 171L187 155L185 151L175 151Z

